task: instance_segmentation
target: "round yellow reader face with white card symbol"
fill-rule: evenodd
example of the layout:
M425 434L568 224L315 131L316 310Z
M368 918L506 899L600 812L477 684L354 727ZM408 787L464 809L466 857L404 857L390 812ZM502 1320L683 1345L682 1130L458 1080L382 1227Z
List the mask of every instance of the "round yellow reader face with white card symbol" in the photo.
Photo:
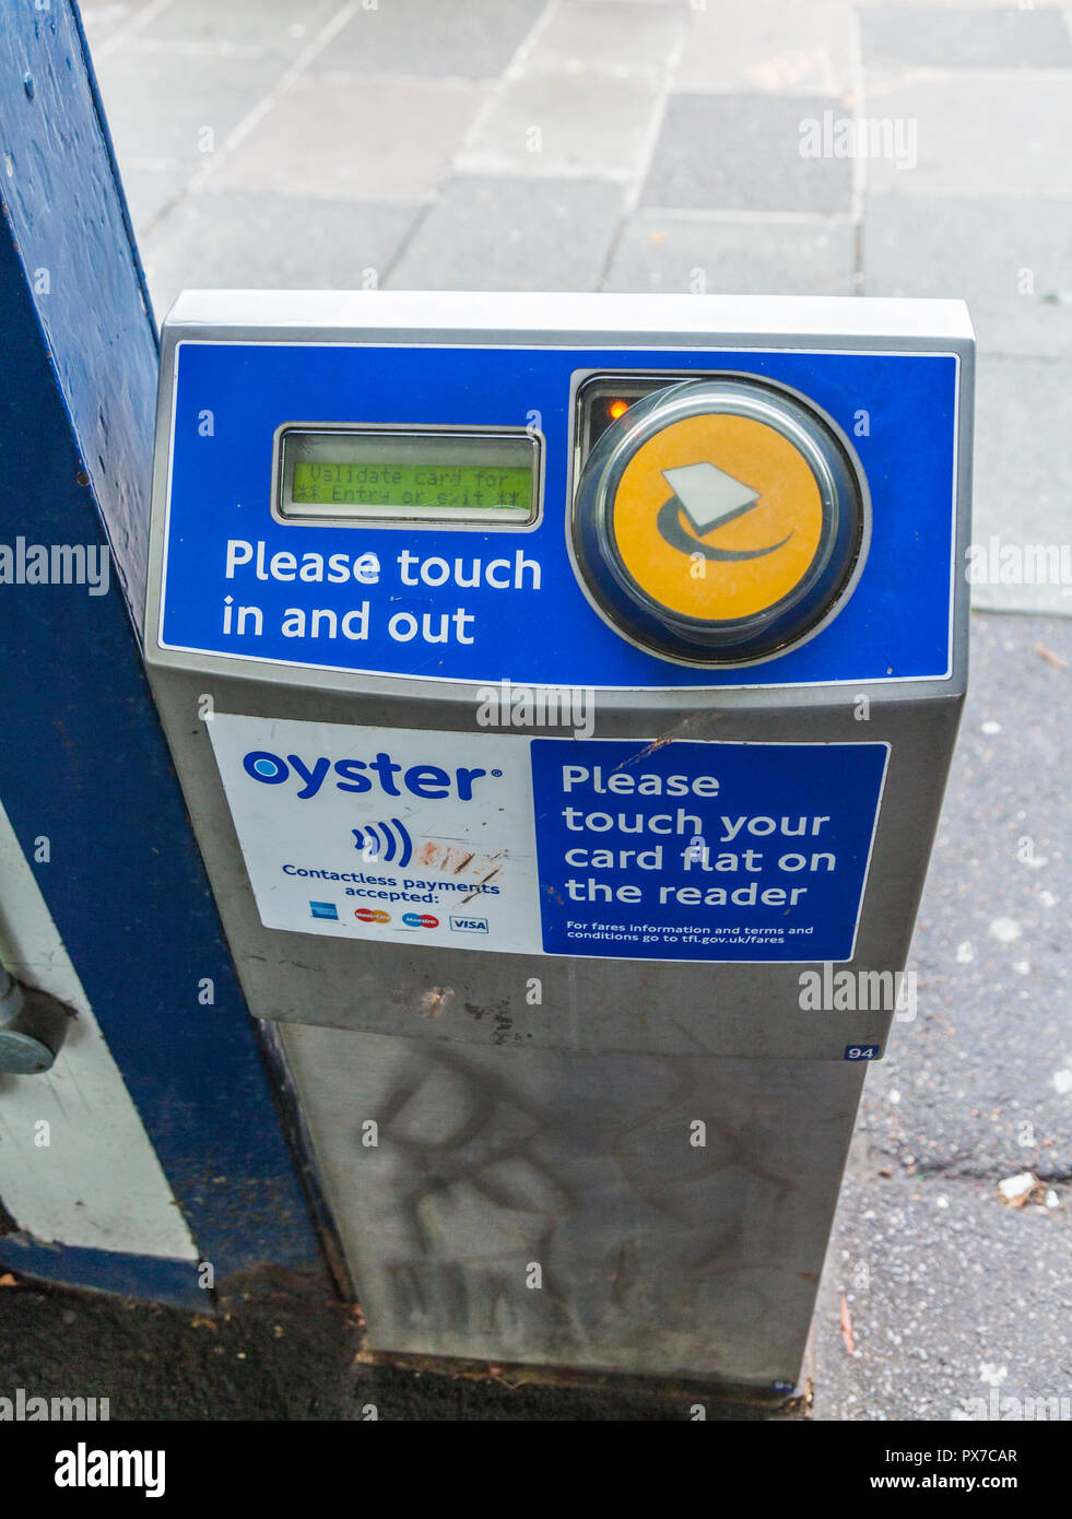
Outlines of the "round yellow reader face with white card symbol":
M811 465L752 416L664 427L626 465L612 507L623 565L654 602L705 621L753 617L805 579L823 538Z

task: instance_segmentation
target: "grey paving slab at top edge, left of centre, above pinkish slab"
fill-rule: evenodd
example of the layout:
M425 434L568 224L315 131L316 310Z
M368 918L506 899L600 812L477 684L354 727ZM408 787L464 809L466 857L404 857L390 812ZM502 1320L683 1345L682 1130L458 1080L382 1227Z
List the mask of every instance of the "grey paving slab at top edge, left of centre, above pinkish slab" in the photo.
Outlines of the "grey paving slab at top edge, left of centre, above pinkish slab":
M545 0L381 0L357 11L313 68L490 79L506 68Z

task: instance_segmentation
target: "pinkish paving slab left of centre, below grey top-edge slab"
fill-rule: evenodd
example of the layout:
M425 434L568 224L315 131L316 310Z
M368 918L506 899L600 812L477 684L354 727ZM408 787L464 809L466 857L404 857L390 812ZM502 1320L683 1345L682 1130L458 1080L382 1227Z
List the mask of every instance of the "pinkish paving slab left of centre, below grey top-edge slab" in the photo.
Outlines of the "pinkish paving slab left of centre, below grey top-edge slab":
M452 81L302 74L213 176L214 188L427 201L484 99Z

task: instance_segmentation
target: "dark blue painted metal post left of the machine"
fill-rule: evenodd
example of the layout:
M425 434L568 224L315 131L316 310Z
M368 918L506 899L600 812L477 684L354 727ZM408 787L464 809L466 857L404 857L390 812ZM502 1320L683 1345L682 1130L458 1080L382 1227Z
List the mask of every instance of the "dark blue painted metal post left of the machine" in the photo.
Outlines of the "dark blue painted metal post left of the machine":
M68 0L0 9L0 797L216 1287L326 1290L143 674L156 334ZM106 592L29 583L29 547L105 542ZM203 1302L188 1262L17 1232L0 1267Z

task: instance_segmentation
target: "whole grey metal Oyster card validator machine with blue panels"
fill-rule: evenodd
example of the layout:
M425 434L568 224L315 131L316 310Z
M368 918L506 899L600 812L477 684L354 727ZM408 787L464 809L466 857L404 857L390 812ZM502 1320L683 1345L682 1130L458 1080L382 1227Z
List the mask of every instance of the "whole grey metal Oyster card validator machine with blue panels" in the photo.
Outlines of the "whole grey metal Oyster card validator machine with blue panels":
M957 302L187 293L146 646L370 1346L787 1388L966 684Z

